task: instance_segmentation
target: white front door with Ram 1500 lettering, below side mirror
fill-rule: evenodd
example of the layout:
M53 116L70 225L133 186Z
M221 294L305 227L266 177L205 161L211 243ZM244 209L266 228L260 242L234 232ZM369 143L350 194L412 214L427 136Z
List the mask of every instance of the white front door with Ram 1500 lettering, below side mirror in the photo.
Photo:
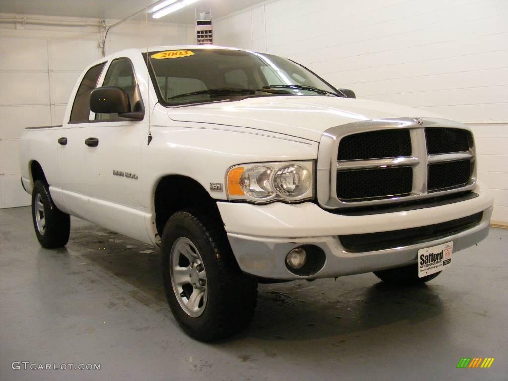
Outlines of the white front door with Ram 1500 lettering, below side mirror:
M101 86L117 86L128 95L131 111L144 110L143 96L131 59L111 61ZM148 112L143 120L118 114L95 114L86 130L85 162L92 222L146 240L142 202L141 147L147 144Z

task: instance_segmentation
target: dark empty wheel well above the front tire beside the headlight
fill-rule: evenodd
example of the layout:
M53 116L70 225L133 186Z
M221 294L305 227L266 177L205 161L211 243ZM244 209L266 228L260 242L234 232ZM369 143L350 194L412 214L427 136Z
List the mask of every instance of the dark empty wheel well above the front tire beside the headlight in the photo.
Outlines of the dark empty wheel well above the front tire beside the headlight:
M166 221L175 212L195 208L209 217L220 221L217 203L210 197L206 189L193 178L181 175L163 177L155 189L155 225L162 236Z

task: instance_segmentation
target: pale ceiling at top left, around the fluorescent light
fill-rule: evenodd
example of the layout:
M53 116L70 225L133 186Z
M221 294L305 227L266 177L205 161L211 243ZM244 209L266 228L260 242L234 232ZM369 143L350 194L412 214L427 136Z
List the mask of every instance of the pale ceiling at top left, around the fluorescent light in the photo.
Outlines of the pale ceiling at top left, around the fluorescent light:
M213 18L251 7L266 0L201 0L160 19L163 22L194 23L196 9L211 9ZM156 0L0 0L0 13L18 15L123 19Z

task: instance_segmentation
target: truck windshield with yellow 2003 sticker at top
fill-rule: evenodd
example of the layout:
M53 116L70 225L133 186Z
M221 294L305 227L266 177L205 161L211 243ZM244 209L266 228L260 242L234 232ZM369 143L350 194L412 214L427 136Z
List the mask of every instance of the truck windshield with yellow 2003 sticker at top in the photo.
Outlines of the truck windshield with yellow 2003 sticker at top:
M148 57L157 96L166 106L281 95L340 96L309 70L272 54L211 48L153 51Z

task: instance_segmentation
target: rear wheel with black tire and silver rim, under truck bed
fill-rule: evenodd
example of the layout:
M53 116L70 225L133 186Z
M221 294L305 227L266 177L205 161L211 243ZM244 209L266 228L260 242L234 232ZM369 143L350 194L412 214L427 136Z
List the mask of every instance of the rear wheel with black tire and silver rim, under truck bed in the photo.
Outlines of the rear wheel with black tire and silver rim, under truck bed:
M42 247L62 247L69 242L71 216L56 208L48 186L40 180L32 190L31 210L35 234Z

